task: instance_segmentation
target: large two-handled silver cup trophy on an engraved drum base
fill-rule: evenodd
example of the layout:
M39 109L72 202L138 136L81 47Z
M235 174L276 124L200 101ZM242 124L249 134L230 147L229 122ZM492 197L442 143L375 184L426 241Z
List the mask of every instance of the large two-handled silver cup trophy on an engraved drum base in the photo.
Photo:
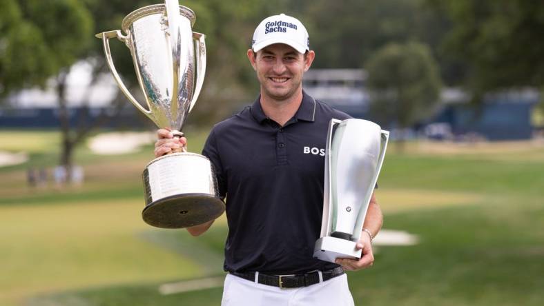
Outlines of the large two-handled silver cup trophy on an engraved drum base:
M187 114L195 105L206 70L204 34L192 31L195 13L177 0L166 0L128 14L120 30L96 36L117 85L135 107L159 128L177 137ZM138 103L119 77L110 52L109 39L117 38L132 54L146 105ZM146 207L142 212L149 225L182 228L199 225L220 216L225 205L219 198L210 161L179 150L151 161L143 173Z

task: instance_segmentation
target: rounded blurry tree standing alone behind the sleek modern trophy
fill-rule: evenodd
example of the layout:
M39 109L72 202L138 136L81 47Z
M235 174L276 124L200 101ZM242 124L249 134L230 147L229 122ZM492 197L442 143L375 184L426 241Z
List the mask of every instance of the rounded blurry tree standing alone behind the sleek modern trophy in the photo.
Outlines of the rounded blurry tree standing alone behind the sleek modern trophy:
M426 45L390 43L367 64L371 112L380 121L409 128L427 118L438 102L438 64Z

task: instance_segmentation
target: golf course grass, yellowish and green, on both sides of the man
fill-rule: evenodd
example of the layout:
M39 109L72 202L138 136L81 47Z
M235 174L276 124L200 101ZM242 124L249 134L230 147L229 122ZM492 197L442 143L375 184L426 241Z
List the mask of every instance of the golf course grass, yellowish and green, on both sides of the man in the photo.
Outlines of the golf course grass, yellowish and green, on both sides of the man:
M380 247L371 269L349 273L356 305L544 303L544 152L514 147L389 150L377 191L385 228L420 244ZM219 305L221 288L157 288L222 274L224 218L199 238L155 230L139 216L149 154L83 160L84 187L34 194L21 170L0 170L0 305Z

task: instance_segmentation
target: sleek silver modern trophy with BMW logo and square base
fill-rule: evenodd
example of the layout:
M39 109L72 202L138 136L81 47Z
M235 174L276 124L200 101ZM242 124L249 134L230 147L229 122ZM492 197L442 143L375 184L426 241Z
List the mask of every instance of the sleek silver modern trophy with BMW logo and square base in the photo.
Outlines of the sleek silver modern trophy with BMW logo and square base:
M385 156L389 132L362 119L332 119L327 134L323 221L313 256L361 257L356 243Z

